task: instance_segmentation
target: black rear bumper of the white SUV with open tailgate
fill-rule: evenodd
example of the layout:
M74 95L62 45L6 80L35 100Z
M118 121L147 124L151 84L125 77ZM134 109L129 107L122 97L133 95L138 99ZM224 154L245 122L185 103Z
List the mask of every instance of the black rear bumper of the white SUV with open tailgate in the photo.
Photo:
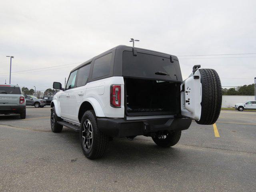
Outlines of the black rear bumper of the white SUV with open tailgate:
M146 120L125 120L98 118L98 128L109 136L125 137L148 135L161 130L186 130L191 124L190 118L161 118Z

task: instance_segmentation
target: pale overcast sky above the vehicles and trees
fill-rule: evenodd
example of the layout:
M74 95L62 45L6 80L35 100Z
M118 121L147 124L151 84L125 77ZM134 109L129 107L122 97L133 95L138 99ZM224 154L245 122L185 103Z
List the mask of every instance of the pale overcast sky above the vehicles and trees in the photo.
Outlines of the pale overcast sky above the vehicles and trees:
M130 38L140 40L137 47L179 56L184 79L201 64L218 72L222 86L254 83L255 0L1 0L0 84L9 82L6 55L15 57L12 84L45 90L101 52L132 45ZM242 55L183 56L210 54ZM38 68L45 69L19 72Z

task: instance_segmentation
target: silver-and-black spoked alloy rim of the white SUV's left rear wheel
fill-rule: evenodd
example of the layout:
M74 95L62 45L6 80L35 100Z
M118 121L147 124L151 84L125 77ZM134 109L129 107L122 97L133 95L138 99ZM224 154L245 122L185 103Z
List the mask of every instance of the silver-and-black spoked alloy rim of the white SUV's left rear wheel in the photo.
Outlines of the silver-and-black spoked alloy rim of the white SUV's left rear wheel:
M85 120L83 124L83 131L82 131L82 138L83 138L83 145L84 148L90 149L92 146L92 123L90 120Z

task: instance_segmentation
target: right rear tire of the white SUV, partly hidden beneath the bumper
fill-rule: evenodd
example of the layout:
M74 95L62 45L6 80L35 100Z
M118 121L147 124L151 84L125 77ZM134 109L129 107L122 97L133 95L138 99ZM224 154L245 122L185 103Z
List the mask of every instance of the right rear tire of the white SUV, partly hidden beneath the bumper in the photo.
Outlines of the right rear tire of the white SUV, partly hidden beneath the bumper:
M168 131L165 131L168 132ZM171 147L178 143L180 140L181 131L175 131L175 132L168 132L168 135L164 139L158 138L158 136L152 137L155 144L157 144L160 147Z

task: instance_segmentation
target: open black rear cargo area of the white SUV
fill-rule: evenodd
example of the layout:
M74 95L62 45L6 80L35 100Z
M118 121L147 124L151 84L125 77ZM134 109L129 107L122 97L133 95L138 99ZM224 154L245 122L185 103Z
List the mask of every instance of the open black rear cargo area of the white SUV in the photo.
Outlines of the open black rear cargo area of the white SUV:
M180 111L180 83L124 78L126 115L177 114Z

